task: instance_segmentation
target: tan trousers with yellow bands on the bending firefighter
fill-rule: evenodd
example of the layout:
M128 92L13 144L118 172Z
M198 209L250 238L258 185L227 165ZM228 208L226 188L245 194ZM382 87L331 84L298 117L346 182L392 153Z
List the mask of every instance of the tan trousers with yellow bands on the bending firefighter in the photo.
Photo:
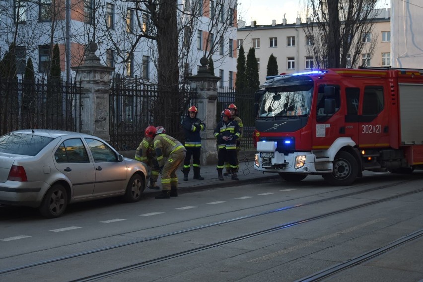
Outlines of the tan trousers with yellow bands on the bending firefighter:
M174 187L174 189L178 188L178 177L176 176L176 171L179 165L184 161L185 155L186 151L180 149L171 153L167 158L161 171L162 191L170 191L170 187Z

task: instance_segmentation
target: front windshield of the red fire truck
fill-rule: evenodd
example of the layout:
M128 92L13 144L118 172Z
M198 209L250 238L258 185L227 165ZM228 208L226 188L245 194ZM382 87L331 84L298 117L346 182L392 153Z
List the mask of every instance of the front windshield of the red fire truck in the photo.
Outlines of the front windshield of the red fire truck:
M268 88L261 97L258 117L308 116L312 93L312 84Z

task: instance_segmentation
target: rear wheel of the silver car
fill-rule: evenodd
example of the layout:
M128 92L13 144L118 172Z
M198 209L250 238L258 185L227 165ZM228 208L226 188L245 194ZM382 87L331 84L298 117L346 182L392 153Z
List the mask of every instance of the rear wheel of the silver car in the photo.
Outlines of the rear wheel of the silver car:
M53 185L44 196L39 211L46 218L55 218L62 215L68 206L68 193L60 184Z

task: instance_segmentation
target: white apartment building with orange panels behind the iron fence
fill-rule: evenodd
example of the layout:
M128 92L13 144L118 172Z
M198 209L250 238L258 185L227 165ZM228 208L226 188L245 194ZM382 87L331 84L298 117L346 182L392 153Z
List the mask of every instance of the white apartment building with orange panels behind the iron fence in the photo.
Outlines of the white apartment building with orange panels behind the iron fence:
M221 86L233 85L236 71L236 1L178 0L178 52L181 79L197 73L200 59L211 57ZM190 16L193 14L194 16ZM36 75L45 77L51 44L60 48L63 77L83 62L86 46L97 44L100 63L113 75L156 82L156 28L136 1L3 0L0 2L0 58L16 46L17 76L28 58ZM212 55L210 54L212 53ZM232 74L233 75L233 74Z

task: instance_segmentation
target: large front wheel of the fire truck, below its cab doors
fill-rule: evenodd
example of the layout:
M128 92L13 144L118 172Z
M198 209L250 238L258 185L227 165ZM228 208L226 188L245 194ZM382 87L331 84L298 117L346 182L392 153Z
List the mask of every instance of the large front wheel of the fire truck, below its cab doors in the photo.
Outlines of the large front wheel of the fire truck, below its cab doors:
M333 161L332 173L323 174L323 178L333 186L350 185L358 174L357 160L348 152L338 152Z

